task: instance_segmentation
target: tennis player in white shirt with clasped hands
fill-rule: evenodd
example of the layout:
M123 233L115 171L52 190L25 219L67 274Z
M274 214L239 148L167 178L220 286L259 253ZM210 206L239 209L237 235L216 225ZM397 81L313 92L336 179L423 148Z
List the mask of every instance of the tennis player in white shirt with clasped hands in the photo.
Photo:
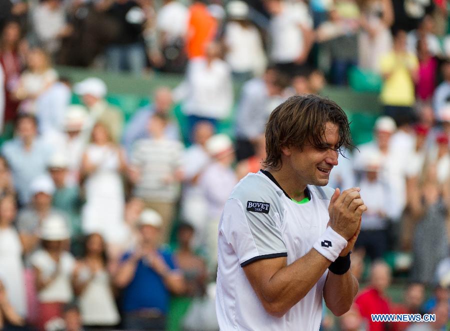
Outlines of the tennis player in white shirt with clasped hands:
M266 124L264 169L227 200L218 229L221 330L316 331L322 299L346 312L358 291L349 252L366 206L353 187L326 187L348 119L333 101L296 95Z

